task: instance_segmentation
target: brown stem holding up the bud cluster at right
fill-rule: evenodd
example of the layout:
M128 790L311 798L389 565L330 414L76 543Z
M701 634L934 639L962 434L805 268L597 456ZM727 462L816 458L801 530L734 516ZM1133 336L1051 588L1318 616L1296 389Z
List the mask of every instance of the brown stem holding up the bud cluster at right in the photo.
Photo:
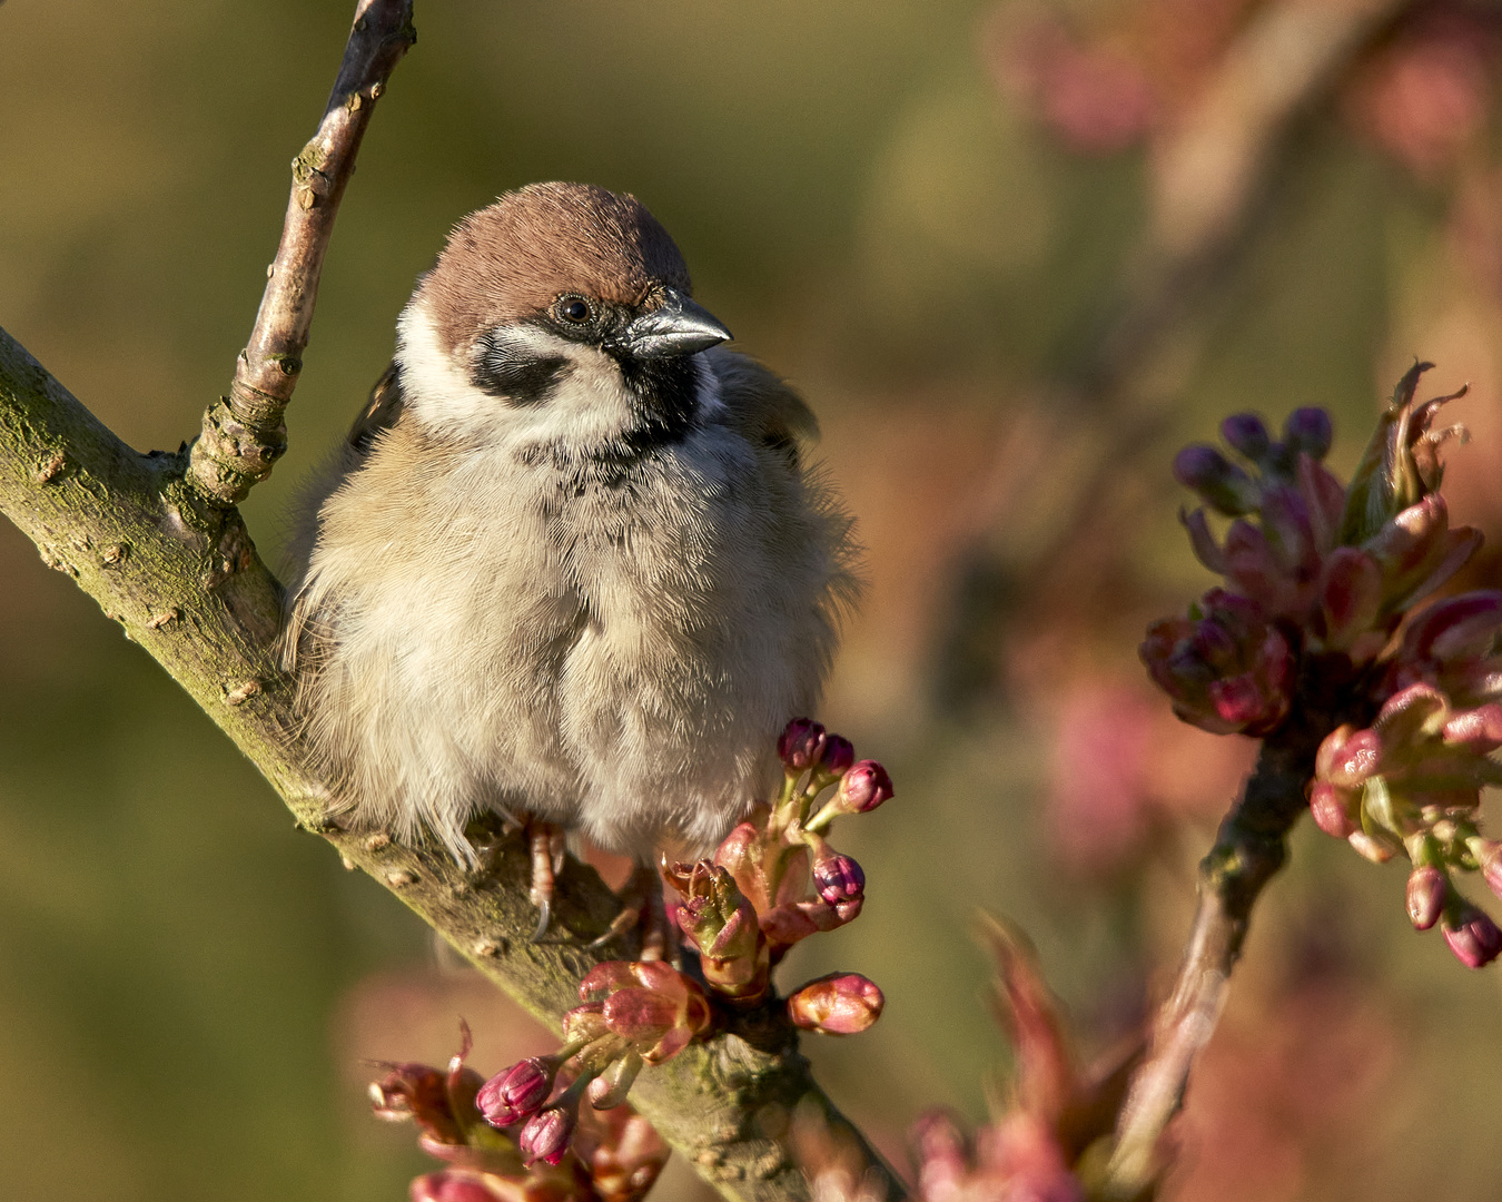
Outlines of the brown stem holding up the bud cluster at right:
M1287 834L1308 808L1304 786L1329 723L1295 715L1263 742L1257 768L1200 861L1200 902L1173 993L1154 1022L1148 1058L1133 1076L1116 1124L1105 1196L1149 1196L1161 1169L1160 1139L1178 1113L1190 1068L1209 1043L1230 971L1263 886L1287 858Z

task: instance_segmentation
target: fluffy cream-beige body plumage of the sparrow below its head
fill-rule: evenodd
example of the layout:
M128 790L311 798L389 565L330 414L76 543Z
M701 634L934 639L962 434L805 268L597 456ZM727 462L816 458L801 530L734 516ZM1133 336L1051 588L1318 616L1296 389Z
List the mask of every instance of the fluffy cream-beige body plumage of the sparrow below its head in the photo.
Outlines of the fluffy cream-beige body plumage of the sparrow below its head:
M388 373L309 488L282 655L360 823L472 856L484 810L698 853L772 787L856 592L798 395L728 350L629 464L433 445Z

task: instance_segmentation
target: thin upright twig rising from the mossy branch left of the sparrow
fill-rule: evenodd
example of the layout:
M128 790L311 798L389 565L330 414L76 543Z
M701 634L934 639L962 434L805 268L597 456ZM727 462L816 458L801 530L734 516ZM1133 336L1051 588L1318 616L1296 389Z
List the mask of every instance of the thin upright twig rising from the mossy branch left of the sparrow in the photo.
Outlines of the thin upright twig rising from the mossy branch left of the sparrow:
M209 406L194 443L188 479L216 505L245 500L287 449L282 415L302 371L333 219L376 101L416 41L412 0L360 0L318 132L291 162L287 218L255 328L230 395Z

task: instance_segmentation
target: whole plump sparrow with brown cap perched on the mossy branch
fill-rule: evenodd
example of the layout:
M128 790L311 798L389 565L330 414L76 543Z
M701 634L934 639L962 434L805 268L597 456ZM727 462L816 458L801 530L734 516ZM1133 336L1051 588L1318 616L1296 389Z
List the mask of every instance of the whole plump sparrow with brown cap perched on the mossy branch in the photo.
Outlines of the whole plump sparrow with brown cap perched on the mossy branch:
M281 655L333 810L470 867L470 819L533 823L539 930L560 832L697 858L769 795L856 590L814 418L730 338L635 197L508 192L294 523Z

